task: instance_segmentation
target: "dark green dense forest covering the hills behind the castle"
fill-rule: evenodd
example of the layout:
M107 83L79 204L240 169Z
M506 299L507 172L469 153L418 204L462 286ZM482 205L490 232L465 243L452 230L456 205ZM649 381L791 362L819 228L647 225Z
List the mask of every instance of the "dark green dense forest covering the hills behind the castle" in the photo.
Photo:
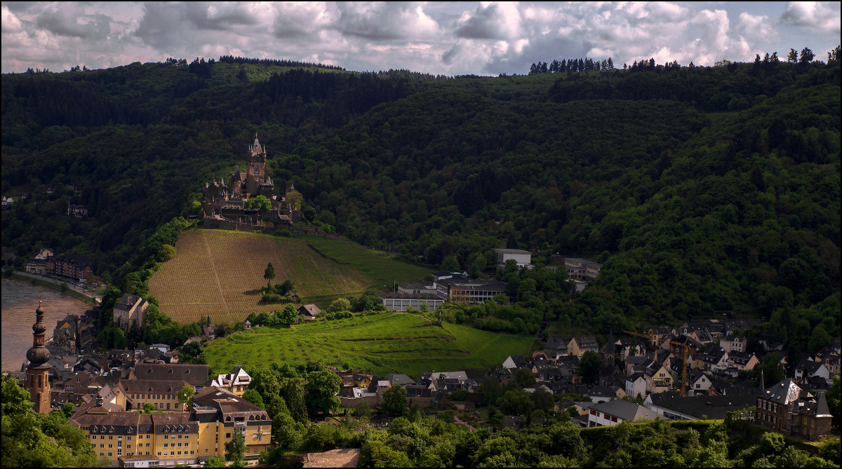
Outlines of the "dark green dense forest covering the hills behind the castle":
M525 281L504 318L524 332L728 314L769 318L781 340L824 338L839 330L839 91L835 60L447 78L226 59L3 75L3 196L32 195L3 212L3 246L74 250L121 282L143 267L136 246L195 210L257 131L308 221L360 244L489 276L495 247L605 263L574 303L561 279L500 274ZM91 217L68 219L67 203Z

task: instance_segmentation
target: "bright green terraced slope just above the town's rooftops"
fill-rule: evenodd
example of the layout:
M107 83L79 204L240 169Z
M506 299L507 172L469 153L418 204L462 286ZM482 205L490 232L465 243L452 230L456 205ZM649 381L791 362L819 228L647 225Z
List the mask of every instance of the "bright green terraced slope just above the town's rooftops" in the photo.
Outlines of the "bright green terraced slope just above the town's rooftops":
M381 313L237 332L211 341L205 356L215 371L237 365L249 370L271 363L295 366L320 361L380 376L397 372L417 379L425 370L498 365L511 354L528 353L532 340L457 324L445 323L440 328L413 314Z

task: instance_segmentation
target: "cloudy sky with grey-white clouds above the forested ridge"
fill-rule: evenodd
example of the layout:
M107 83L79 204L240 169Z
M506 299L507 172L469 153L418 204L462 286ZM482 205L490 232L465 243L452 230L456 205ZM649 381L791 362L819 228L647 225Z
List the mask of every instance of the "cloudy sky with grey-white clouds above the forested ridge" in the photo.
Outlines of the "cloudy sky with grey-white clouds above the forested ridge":
M3 2L3 73L241 55L348 70L526 73L531 63L712 65L839 45L839 3Z

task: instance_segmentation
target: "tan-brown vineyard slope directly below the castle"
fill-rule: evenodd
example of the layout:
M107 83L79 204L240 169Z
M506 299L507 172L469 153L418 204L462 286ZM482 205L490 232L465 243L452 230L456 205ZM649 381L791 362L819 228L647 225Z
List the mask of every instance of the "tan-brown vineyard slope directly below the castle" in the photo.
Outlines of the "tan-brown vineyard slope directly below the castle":
M275 271L272 282L292 280L303 301L355 296L376 284L353 266L319 255L303 240L193 229L181 235L175 249L176 255L149 280L149 292L164 314L183 324L206 316L216 324L231 324L253 312L283 308L259 304L269 262Z

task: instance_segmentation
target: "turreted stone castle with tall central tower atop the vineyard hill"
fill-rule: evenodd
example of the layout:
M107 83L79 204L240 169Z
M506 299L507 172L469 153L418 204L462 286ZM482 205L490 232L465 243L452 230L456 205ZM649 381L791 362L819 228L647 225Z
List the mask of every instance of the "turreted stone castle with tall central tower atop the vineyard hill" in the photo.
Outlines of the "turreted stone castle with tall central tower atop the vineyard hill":
M296 190L291 183L284 197L274 195L274 182L266 174L266 147L260 145L256 133L254 143L248 146L246 161L245 176L240 172L239 165L234 166L230 185L223 178L216 181L216 177L211 182L205 182L202 201L205 227L250 231L266 228L264 222L277 229L290 228L293 223L301 221L301 210L297 206L301 201L290 198ZM272 204L269 212L247 208L246 201L257 196L269 199Z

